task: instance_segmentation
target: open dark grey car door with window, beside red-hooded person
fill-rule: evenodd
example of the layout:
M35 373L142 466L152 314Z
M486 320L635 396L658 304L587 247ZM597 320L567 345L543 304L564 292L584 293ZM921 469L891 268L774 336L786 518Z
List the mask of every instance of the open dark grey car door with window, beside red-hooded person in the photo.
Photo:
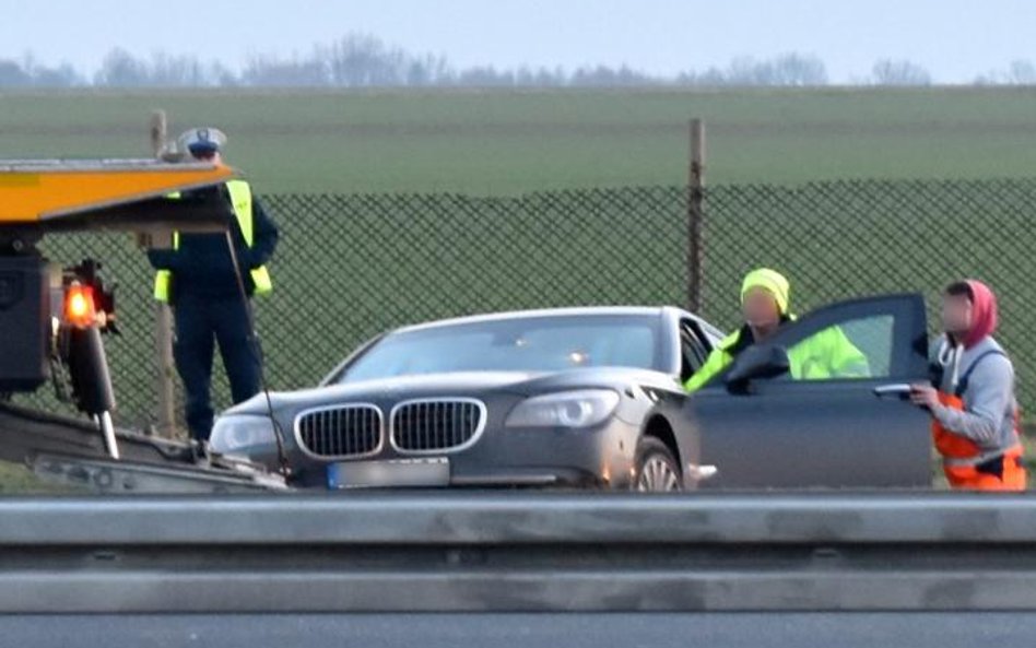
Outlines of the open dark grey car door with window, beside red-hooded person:
M895 390L928 378L926 338L923 297L888 295L826 306L746 349L684 404L684 455L716 469L697 485L929 487L928 415Z

